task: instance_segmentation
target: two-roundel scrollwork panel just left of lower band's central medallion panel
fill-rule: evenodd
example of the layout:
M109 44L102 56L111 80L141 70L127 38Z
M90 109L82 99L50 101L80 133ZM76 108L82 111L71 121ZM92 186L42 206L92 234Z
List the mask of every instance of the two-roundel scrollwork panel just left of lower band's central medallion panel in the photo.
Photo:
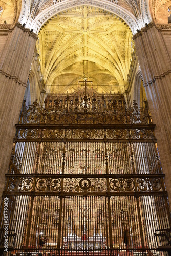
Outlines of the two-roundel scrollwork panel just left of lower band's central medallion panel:
M36 190L37 191L59 191L61 182L59 178L37 178Z

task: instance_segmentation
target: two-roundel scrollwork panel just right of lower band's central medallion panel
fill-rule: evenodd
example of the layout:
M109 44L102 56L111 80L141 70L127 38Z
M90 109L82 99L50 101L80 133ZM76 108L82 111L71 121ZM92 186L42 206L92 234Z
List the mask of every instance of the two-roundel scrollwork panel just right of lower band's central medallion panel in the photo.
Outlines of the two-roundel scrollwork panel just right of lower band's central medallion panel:
M109 185L113 191L134 191L134 179L131 178L113 178Z

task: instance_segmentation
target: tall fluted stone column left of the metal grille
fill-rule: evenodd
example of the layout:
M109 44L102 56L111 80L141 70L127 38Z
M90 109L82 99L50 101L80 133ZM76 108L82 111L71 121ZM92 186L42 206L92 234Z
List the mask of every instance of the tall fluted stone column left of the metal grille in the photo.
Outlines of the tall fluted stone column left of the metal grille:
M4 174L8 171L15 123L22 107L36 40L34 33L17 23L8 33L0 59L0 195L4 190Z

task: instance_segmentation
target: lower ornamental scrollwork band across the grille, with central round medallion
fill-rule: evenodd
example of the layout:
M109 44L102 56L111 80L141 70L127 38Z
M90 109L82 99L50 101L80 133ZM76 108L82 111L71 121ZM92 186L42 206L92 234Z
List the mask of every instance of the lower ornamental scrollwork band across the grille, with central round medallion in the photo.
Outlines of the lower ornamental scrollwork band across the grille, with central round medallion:
M135 192L163 191L160 177L138 178L55 178L55 177L11 177L7 191L15 192ZM109 185L108 185L109 181ZM61 183L63 184L61 187Z

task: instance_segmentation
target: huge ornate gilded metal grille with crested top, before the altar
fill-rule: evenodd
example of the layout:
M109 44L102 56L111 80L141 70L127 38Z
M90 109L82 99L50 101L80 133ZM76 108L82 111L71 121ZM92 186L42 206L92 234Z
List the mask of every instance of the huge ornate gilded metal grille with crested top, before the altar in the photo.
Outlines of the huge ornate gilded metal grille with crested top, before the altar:
M147 107L91 90L48 95L45 108L24 107L16 127L4 191L11 254L168 255L167 193ZM3 210L1 219L2 247Z

